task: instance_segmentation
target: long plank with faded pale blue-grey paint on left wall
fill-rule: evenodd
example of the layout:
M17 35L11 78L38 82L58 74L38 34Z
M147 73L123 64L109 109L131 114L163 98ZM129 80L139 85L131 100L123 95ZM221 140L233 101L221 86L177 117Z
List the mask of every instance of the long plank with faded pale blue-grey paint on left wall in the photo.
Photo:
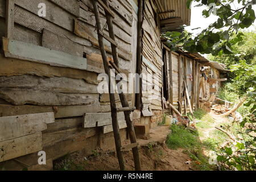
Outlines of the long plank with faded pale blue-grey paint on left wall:
M86 58L16 40L3 38L3 50L6 57L59 67L70 67L82 70L86 70L87 68Z

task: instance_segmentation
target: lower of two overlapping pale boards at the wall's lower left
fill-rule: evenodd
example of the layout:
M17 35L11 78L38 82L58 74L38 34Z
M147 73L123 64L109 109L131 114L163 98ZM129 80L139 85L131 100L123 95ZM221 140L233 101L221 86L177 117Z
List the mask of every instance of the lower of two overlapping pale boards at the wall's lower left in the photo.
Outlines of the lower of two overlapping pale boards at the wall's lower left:
M0 149L0 162L40 151L43 149L42 133L38 132L25 137L5 140L0 142Z

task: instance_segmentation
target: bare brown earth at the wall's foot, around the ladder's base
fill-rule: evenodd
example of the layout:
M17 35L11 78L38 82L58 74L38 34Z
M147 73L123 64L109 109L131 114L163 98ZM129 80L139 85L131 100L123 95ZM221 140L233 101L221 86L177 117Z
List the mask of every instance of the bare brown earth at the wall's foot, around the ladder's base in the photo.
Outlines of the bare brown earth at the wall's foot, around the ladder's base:
M140 144L140 157L142 169L147 171L190 171L193 170L189 156L183 153L183 149L171 150L165 144L169 127L158 126L151 129L149 140L138 139ZM127 141L128 142L128 141ZM134 170L133 153L123 152L126 170ZM94 155L85 157L79 152L55 161L54 168L58 170L119 170L117 156L113 151L95 151Z

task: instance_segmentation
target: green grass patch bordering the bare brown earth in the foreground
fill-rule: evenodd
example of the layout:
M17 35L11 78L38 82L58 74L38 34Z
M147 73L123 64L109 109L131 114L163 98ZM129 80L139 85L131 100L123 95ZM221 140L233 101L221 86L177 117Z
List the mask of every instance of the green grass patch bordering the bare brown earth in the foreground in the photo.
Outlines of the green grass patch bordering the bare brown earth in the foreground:
M212 170L214 166L208 163L209 159L203 155L204 147L199 139L197 131L191 132L183 126L172 125L172 133L168 135L167 146L173 150L184 148L185 154L188 154L195 162L195 168L201 171Z

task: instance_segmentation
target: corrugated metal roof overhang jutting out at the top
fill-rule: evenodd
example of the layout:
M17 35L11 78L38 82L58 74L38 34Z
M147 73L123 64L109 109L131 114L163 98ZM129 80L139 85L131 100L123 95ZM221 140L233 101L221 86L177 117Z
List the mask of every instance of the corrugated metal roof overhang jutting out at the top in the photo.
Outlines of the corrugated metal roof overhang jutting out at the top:
M187 0L155 0L160 17L161 31L175 31L183 24L191 23L191 10L187 8Z

